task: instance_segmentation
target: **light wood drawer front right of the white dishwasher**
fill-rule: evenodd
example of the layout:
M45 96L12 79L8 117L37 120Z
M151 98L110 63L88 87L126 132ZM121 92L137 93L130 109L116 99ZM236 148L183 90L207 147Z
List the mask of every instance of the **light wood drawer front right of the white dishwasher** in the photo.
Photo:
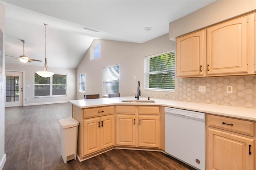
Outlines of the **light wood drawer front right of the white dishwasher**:
M209 127L221 128L240 134L254 136L254 124L250 121L208 115L207 125Z

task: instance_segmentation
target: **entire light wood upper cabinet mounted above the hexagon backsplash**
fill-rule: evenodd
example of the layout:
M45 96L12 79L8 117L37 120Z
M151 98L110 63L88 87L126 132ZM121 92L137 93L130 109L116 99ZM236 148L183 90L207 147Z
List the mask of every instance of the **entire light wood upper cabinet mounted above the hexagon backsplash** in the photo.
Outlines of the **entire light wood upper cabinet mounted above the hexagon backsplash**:
M176 76L255 74L255 18L241 16L177 38Z

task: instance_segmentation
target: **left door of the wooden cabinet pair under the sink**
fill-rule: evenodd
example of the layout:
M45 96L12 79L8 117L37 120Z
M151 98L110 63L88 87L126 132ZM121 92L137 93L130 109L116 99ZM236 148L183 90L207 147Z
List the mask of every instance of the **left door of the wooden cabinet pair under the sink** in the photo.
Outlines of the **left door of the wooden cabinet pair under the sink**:
M135 115L116 115L116 144L136 146Z

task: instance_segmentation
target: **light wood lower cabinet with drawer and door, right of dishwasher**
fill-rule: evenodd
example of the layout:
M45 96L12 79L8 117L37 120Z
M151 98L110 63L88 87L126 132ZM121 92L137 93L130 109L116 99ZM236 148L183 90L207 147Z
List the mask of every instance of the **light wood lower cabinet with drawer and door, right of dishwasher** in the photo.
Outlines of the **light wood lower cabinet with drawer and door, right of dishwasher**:
M207 170L254 170L253 122L207 115L206 123Z

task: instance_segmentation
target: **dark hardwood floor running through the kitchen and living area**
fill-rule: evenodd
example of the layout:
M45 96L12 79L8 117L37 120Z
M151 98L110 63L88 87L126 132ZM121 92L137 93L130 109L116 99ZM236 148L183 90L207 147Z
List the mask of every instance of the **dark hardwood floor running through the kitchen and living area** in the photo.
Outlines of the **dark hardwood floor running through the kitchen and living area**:
M3 170L193 170L163 154L114 149L88 160L64 164L58 120L72 117L72 105L60 103L5 109Z

